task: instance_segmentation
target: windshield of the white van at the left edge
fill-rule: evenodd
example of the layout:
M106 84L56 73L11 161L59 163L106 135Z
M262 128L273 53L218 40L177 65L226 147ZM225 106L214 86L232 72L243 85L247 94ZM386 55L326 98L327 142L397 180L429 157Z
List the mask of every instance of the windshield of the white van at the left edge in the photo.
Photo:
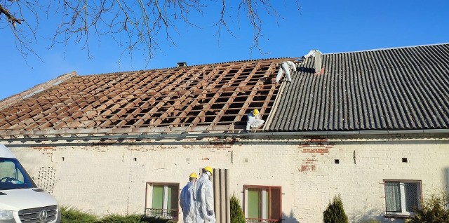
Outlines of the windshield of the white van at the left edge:
M0 190L35 188L16 158L0 158Z

